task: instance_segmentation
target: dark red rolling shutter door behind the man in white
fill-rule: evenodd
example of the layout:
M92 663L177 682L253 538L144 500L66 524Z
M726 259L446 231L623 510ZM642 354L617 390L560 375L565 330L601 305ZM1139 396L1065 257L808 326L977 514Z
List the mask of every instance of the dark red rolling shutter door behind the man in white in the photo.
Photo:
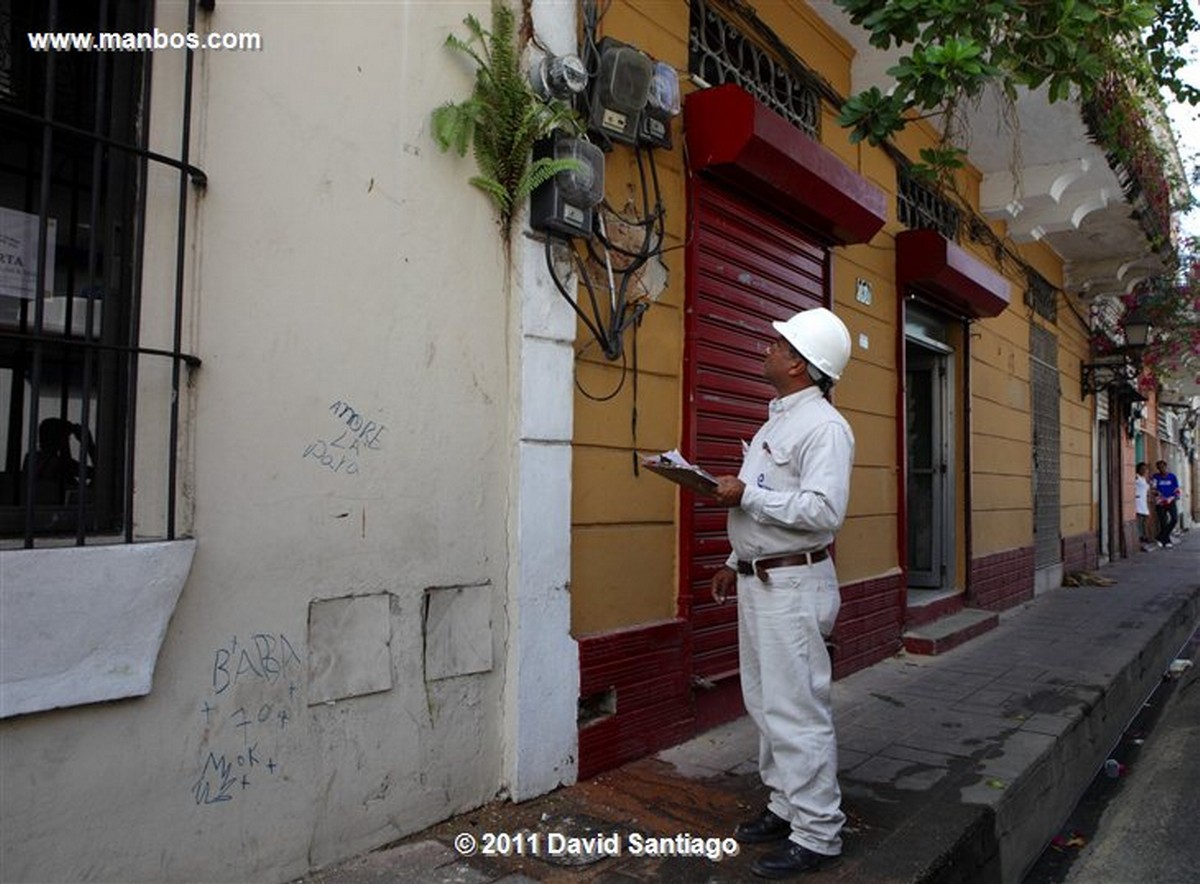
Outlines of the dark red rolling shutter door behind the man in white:
M742 440L749 441L766 420L774 395L762 379L762 348L775 337L770 320L828 303L829 253L761 204L702 178L694 181L685 453L712 473L736 474ZM686 493L682 527L679 601L680 615L691 624L694 681L736 685L737 611L718 607L709 596L713 570L730 551L725 511ZM720 693L697 692L697 718L728 717L701 708L706 697L727 705Z

